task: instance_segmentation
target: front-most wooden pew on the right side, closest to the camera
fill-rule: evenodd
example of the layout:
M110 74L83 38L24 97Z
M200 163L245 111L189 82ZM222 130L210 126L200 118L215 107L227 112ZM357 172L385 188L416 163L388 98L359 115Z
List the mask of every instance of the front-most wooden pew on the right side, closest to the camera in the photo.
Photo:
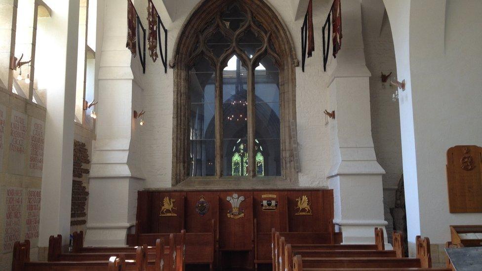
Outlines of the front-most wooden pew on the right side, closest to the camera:
M437 270L431 269L430 241L417 236L417 258L303 258L293 257L293 271L303 270ZM447 269L438 269L447 270Z

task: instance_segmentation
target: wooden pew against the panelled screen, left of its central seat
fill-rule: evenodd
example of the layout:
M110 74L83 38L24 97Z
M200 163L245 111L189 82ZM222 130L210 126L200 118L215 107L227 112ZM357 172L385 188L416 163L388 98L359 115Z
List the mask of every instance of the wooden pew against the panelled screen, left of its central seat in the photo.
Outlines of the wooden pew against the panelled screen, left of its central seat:
M182 230L181 232L186 232ZM165 238L169 233L134 233L127 235L127 245L152 245L156 239ZM175 233L176 243L179 233ZM216 226L211 220L211 232L185 233L185 264L206 264L213 268L216 245Z

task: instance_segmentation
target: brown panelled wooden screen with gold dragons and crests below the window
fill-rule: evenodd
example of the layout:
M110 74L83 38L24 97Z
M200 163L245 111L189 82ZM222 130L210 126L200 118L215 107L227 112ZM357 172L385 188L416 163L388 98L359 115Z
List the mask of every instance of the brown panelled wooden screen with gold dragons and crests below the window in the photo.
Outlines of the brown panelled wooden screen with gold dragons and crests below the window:
M238 204L234 204L237 210L231 203L236 201L234 198L238 198ZM206 204L207 211L200 208ZM218 265L252 268L254 263L271 263L272 228L280 232L313 232L313 236L332 233L333 191L166 190L138 193L137 233L180 232L182 229L188 234L210 232L213 219L217 236L217 251L213 253L218 257Z

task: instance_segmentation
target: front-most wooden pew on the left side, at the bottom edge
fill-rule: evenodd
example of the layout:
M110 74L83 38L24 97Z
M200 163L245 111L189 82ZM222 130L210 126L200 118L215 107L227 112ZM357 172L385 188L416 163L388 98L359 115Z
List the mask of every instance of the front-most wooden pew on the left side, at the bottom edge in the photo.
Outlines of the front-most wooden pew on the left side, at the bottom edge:
M125 261L123 257L110 257L107 261L80 262L31 262L30 241L15 242L13 247L12 271L145 271L147 246L136 249L136 259ZM117 268L117 269L115 269Z

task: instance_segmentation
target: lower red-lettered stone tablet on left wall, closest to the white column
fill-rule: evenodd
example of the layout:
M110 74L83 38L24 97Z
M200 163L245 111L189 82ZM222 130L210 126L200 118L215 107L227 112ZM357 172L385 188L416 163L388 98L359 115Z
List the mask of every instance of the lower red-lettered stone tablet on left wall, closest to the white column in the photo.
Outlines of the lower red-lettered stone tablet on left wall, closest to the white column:
M40 189L27 190L27 209L25 221L25 239L29 239L31 246L37 244L40 224Z

